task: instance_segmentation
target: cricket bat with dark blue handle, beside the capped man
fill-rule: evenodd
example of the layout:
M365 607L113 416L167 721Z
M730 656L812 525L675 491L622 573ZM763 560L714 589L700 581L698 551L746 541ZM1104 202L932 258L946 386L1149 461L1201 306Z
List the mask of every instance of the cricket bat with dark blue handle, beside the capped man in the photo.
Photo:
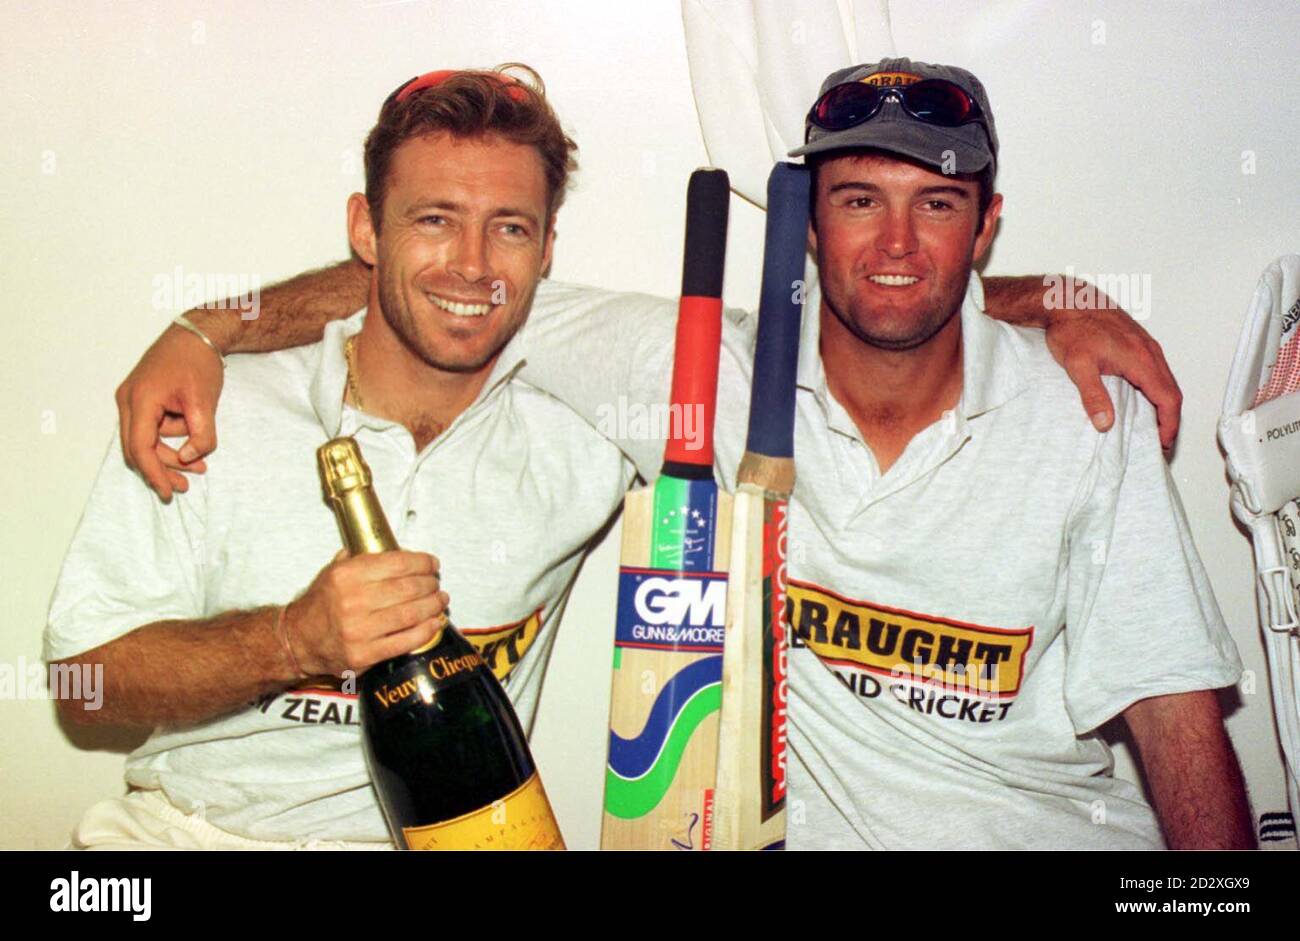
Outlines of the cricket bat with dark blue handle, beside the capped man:
M807 222L809 173L779 162L767 181L749 433L732 504L711 841L718 850L785 846L785 526Z

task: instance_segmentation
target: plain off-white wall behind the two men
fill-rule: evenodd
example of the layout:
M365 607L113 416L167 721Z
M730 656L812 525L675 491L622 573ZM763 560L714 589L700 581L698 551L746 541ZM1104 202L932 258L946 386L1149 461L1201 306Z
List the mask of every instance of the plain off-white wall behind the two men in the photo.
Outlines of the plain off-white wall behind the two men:
M1256 811L1280 810L1249 548L1214 421L1256 277L1300 251L1300 6L889 8L900 53L966 65L993 100L1006 211L988 273L1150 274L1147 326L1187 396L1174 474L1251 671L1228 728ZM116 429L113 389L177 312L155 309L153 278L181 265L265 285L342 257L384 96L434 68L508 60L541 71L581 146L555 277L672 294L684 182L707 162L676 0L0 4L0 664L38 659ZM731 303L757 298L760 238L760 213L737 203ZM598 834L614 547L584 569L536 734L576 847ZM49 702L0 702L0 847L62 845L120 792L129 741L69 733Z

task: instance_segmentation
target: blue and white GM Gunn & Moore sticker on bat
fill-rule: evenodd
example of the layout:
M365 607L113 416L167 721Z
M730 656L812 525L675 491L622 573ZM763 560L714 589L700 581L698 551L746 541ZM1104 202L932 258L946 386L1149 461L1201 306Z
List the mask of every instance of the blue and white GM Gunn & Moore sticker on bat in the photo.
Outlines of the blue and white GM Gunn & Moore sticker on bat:
M725 625L725 572L619 569L615 646L720 654Z

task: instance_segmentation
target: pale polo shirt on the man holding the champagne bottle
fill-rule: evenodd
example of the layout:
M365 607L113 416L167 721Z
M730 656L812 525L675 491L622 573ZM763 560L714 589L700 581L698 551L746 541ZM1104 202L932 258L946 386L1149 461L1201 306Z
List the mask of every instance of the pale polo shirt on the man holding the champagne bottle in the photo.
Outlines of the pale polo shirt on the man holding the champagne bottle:
M231 356L220 447L170 504L126 468L113 435L55 589L46 659L152 621L294 599L339 550L316 448L351 434L398 542L442 561L455 624L498 676L510 671L506 688L532 727L552 625L632 468L568 408L516 380L526 326L474 403L417 454L402 425L343 404L343 342L364 316L332 324L312 346ZM127 758L126 780L251 840L389 840L356 697L337 688L289 689L156 729Z

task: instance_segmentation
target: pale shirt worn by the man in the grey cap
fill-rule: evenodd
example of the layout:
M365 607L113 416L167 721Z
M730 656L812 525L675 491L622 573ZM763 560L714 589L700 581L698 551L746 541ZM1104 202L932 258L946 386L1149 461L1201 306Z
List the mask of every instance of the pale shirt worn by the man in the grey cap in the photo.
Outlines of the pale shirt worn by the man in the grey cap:
M1098 434L1044 334L971 276L959 404L881 474L829 394L809 298L790 503L792 849L1158 847L1097 727L1240 662L1160 450L1108 380ZM550 285L521 376L658 472L673 304ZM716 452L734 482L755 318L728 312Z

